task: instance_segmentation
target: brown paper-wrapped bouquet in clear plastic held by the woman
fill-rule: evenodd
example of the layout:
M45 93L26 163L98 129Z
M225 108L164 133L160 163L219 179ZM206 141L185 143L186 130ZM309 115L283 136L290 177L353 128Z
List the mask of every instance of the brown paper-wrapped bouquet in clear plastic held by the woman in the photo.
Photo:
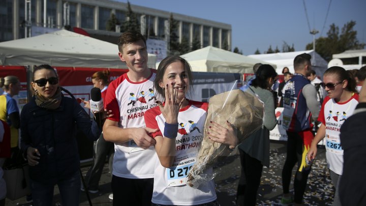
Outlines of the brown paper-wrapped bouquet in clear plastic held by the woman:
M238 81L233 85L237 84ZM241 84L239 83L239 85ZM212 167L220 156L228 155L225 152L227 150L225 144L208 139L210 121L222 126L226 126L226 121L229 121L237 131L238 143L241 143L263 124L263 102L248 86L242 86L241 89L236 88L209 99L203 141L196 163L187 176L188 185L191 187L198 188L200 184L212 180L214 175L206 173L205 170ZM243 88L245 89L242 90Z

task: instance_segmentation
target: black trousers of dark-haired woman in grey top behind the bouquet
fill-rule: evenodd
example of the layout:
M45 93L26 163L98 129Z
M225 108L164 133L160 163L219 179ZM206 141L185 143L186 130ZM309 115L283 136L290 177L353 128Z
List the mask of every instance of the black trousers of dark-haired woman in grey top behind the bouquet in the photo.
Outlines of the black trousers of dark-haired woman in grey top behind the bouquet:
M255 205L262 176L261 162L240 150L241 175L236 193L236 204Z

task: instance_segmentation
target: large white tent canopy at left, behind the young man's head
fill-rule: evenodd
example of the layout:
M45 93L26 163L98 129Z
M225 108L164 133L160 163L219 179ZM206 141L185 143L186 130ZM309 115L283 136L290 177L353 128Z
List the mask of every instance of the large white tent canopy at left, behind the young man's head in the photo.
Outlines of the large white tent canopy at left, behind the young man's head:
M148 54L148 66L155 68L156 55ZM60 30L26 39L0 43L0 65L127 68L118 57L115 44Z

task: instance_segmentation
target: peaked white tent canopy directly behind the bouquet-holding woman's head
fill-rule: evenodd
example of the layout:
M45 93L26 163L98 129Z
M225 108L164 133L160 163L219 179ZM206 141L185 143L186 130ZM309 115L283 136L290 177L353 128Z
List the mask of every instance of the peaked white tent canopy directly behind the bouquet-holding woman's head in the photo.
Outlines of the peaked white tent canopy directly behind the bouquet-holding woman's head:
M180 56L190 63L195 72L253 73L253 66L256 63L270 64L212 46ZM276 68L276 65L272 66Z

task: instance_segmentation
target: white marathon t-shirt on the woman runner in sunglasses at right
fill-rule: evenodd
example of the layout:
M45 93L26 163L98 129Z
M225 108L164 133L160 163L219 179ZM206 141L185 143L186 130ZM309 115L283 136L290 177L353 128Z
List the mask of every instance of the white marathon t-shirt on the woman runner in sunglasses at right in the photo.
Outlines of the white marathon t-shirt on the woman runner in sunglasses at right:
M353 114L357 104L358 94L354 94L347 102L343 103L337 103L327 96L319 113L318 121L325 125L325 155L328 168L339 175L342 175L343 172L340 129L347 117Z

